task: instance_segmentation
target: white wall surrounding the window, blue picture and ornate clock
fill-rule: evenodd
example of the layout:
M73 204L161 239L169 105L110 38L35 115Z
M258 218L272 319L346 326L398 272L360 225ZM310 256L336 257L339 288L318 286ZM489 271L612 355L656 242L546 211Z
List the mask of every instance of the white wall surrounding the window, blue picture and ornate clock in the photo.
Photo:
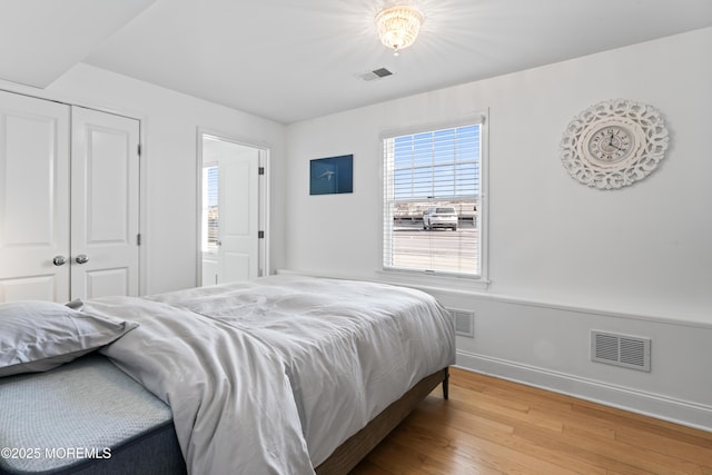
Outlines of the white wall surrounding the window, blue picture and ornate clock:
M379 132L488 109L492 283L428 283L476 313L458 363L712 429L711 50L704 29L288 126L278 267L383 278ZM562 131L615 98L662 112L669 155L632 187L589 189L561 165ZM308 161L345 154L354 194L309 196ZM652 372L591 363L591 329L651 337Z

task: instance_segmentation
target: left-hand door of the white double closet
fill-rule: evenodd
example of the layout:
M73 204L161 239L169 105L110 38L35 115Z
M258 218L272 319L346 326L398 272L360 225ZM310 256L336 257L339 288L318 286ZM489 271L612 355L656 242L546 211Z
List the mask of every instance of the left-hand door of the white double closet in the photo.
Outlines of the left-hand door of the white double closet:
M0 91L0 301L69 299L69 133L68 106Z

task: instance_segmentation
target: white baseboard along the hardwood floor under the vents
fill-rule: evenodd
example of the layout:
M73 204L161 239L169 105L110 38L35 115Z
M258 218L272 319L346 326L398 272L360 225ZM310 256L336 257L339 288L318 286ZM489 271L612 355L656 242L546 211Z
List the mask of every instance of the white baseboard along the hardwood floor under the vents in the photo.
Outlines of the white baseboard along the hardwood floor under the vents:
M610 385L520 363L457 352L457 367L712 432L712 406Z

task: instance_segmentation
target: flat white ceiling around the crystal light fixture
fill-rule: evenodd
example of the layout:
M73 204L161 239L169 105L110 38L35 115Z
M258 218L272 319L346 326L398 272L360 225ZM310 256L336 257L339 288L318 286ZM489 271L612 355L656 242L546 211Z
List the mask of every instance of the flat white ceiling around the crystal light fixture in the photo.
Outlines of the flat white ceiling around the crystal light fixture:
M289 123L712 26L710 0L404 0L398 3L417 7L425 22L416 43L394 57L373 21L394 3L156 0L95 41L83 61ZM80 20L92 24L99 17L106 14L88 9ZM36 22L34 16L0 27L20 32ZM56 36L36 33L57 43ZM358 78L382 67L395 75Z

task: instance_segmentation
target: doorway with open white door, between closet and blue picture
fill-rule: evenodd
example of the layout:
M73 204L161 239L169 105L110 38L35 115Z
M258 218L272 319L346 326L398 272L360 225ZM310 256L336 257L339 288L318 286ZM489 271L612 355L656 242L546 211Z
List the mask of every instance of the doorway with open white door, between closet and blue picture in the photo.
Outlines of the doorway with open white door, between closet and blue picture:
M269 150L199 132L198 286L265 275Z

